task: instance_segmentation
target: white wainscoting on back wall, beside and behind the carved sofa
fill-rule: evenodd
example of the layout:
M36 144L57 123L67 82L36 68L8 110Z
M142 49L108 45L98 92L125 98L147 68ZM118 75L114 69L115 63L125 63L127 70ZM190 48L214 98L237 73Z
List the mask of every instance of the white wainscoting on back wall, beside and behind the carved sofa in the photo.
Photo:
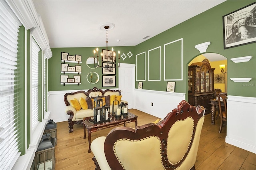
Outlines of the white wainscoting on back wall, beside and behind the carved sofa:
M105 89L102 89L103 91ZM111 89L118 90L118 89ZM54 122L68 121L69 115L65 113L66 104L64 102L64 95L66 93L73 93L80 90L66 90L66 91L49 91L48 92L48 111L51 111L50 119ZM88 91L85 89L83 91Z

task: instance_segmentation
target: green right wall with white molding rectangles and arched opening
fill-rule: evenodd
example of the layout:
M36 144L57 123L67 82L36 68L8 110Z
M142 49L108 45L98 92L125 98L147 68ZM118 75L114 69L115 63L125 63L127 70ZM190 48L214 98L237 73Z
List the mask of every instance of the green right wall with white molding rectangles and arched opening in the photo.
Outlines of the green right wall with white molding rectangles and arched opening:
M146 51L146 75L148 73L148 53L147 51L155 47L161 46L161 81L144 81L143 89L166 91L167 81L164 81L164 44L173 42L183 38L183 80L176 81L175 92L187 93L188 85L188 63L200 52L194 47L197 44L211 42L207 52L219 53L224 55L228 60L228 95L256 97L256 43L241 45L224 49L223 45L223 24L222 16L238 10L248 4L256 2L255 0L228 0L222 4L211 8L149 40L135 46L136 54ZM171 22L171 21L170 21ZM181 67L177 62L180 55L176 55L177 50L174 49L174 55L167 55L166 61L170 67L173 67L166 73L171 79L177 79L173 74L180 74ZM244 57L252 55L252 59L245 63L234 63L230 58ZM137 61L138 62L138 61ZM137 63L142 65L144 63ZM154 69L154 67L150 67ZM216 68L218 69L218 68ZM249 83L234 83L230 78L252 77ZM170 78L170 77L169 77ZM168 79L169 79L168 78ZM146 79L147 80L147 79ZM138 87L136 81L135 87Z

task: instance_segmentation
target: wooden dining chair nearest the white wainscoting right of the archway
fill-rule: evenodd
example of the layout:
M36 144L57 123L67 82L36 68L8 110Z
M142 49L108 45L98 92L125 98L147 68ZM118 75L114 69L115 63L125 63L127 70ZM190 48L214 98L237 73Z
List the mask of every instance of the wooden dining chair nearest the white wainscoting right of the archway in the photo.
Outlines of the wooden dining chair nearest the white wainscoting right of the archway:
M224 109L221 107L221 98L224 103ZM219 114L220 114L220 130L221 133L224 122L227 122L227 93L218 93L218 102L219 102Z

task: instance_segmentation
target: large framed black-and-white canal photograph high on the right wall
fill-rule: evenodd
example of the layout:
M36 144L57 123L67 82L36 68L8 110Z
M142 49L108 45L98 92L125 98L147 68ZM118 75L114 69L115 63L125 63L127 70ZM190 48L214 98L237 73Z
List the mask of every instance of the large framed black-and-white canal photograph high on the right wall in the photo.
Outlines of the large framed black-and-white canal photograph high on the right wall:
M224 49L256 42L256 2L223 16Z

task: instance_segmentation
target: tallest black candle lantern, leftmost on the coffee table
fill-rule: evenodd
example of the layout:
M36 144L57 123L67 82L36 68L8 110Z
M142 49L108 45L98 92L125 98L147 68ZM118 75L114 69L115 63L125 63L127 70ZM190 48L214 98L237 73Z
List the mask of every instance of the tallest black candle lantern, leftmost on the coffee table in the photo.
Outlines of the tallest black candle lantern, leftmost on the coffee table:
M103 122L103 100L99 96L96 97L93 101L94 107L94 124L102 123Z

